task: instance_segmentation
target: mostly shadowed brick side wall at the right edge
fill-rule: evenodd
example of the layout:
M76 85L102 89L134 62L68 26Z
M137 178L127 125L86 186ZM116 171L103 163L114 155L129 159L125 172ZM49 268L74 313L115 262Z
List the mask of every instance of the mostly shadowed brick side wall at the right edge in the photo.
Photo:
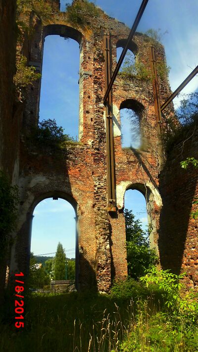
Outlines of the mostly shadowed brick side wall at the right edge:
M198 289L198 218L191 217L196 209L192 202L198 197L198 170L180 166L187 157L198 159L198 128L175 144L160 174L160 262L163 269L186 272L187 287Z

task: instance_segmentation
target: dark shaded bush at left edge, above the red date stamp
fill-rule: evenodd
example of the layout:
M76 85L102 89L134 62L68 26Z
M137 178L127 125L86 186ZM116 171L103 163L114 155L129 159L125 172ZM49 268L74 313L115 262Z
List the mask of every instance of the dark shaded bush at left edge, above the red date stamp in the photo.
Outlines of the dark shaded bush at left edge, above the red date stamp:
M0 170L0 251L8 245L17 220L18 187Z

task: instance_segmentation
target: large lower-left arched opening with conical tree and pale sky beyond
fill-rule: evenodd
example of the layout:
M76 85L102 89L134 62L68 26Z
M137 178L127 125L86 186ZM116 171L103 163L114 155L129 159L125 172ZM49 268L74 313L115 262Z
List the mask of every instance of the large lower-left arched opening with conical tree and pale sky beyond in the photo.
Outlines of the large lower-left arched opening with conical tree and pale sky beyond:
M32 289L49 290L51 280L74 282L77 236L73 206L57 197L48 198L35 207L33 216L30 257ZM57 247L59 264L55 260Z

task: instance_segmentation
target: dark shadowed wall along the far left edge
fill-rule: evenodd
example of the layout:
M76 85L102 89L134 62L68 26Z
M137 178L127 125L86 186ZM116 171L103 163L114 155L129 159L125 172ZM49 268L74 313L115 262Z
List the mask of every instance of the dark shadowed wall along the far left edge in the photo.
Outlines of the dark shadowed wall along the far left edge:
M16 1L0 0L0 170L10 184L18 180L19 119L13 75L16 52ZM1 235L1 234L0 234ZM7 252L0 253L0 304L5 283Z

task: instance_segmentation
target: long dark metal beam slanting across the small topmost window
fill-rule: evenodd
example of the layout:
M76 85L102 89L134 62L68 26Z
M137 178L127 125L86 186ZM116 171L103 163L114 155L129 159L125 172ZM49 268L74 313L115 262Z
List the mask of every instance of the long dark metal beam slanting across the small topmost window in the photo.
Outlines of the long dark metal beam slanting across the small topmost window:
M132 28L131 28L130 33L129 33L129 36L128 36L126 45L125 45L124 49L122 50L122 53L121 53L121 55L120 55L120 58L119 58L119 60L118 60L117 65L116 65L115 71L113 72L112 77L111 77L111 79L110 79L110 82L108 83L108 86L107 86L107 89L106 89L106 93L105 93L105 96L104 96L104 99L103 99L104 104L105 104L106 101L107 101L108 95L109 95L109 93L110 93L110 91L111 91L111 88L112 88L113 83L114 83L114 81L115 81L115 79L116 79L116 76L117 76L117 74L118 74L118 71L119 71L119 69L120 69L120 66L121 66L121 64L122 64L122 62L123 62L123 60L124 60L125 55L126 55L126 52L127 52L128 46L129 46L129 43L130 43L130 41L133 39L134 33L136 32L136 29L137 29L137 27L138 27L138 24L139 24L139 22L140 22L140 20L141 20L142 15L143 15L143 13L144 13L144 10L145 10L145 8L146 8L146 6L147 6L147 3L148 3L148 0L143 0L143 1L142 1L142 4L141 4L140 9L139 9L139 11L138 11L138 14L137 14L137 16L136 16L136 19L135 19L135 21L134 21L134 24L133 24L133 26L132 26Z

